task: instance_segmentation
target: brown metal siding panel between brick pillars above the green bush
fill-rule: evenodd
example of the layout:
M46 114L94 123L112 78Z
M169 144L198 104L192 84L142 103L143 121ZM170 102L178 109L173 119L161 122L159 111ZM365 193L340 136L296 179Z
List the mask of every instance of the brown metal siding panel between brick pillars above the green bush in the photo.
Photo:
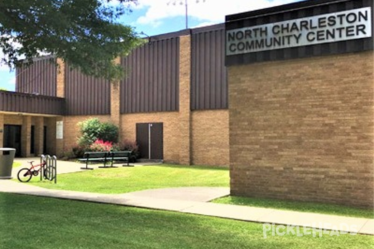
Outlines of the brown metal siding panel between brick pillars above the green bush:
M110 82L65 67L67 115L110 114Z

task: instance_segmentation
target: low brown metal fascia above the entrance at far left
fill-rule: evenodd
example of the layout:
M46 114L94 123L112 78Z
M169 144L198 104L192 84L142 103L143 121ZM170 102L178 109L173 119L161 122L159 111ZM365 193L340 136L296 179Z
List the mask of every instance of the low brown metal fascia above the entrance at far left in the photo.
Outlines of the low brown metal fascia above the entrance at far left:
M0 91L0 111L64 115L65 99Z

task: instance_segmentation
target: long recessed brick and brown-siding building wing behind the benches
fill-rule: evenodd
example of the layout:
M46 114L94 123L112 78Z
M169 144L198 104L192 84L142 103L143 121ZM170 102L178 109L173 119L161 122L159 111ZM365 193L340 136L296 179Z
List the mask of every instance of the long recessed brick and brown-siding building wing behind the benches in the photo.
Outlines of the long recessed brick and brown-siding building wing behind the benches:
M59 155L76 145L78 122L98 117L143 158L229 165L223 24L150 37L120 63L126 78L115 83L53 57L18 68L16 93L0 92L0 147Z

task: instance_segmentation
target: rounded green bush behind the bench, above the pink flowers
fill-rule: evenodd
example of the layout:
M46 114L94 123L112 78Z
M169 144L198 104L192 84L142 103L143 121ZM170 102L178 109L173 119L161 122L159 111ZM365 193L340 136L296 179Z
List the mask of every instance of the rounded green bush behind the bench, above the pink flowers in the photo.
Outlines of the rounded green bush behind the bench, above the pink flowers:
M100 139L112 143L118 142L118 127L109 122L100 122L98 118L90 118L78 123L81 137L78 138L80 147L89 147Z

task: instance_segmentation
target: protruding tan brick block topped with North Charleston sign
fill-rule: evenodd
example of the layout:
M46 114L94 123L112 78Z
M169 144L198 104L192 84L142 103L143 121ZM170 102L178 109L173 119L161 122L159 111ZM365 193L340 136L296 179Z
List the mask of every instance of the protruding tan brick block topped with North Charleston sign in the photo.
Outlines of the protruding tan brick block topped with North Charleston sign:
M226 16L231 193L373 207L373 1Z

